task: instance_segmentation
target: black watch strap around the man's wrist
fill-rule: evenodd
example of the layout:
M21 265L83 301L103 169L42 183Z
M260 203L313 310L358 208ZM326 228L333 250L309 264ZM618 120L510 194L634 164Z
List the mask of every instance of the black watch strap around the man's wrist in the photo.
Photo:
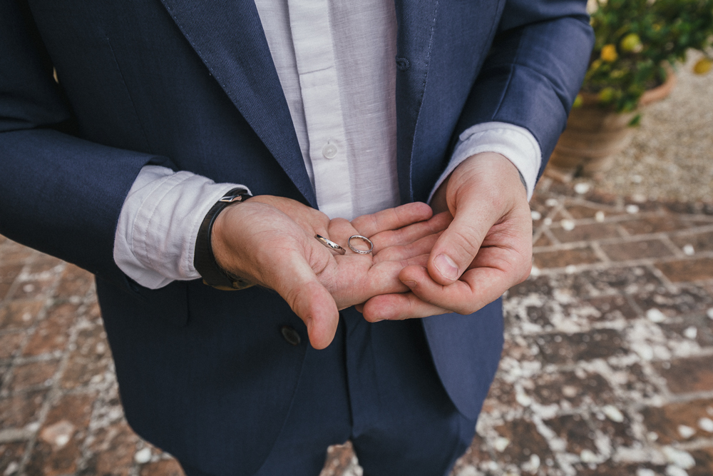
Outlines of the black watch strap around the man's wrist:
M252 195L250 195L245 188L233 188L210 208L200 223L198 237L195 238L195 250L193 250L193 266L203 278L203 283L213 288L221 290L240 290L250 288L250 286L254 284L245 278L227 273L220 268L215 261L215 255L213 255L213 248L210 243L213 223L218 213L232 203L241 203L250 197L252 197Z

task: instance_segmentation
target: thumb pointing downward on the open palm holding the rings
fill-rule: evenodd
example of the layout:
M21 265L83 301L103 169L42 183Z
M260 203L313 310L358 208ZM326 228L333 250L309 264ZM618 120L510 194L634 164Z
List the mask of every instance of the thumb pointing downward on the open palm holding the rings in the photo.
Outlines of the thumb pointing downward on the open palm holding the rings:
M337 303L317 280L302 256L294 256L280 273L275 290L287 301L292 311L307 325L309 343L315 349L324 349L334 339L339 324Z

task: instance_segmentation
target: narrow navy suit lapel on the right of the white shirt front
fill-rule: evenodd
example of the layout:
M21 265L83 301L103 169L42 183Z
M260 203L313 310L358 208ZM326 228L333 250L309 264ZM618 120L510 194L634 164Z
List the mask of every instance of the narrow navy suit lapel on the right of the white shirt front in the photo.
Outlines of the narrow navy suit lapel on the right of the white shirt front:
M438 0L396 0L396 162L401 203L414 200L412 164Z

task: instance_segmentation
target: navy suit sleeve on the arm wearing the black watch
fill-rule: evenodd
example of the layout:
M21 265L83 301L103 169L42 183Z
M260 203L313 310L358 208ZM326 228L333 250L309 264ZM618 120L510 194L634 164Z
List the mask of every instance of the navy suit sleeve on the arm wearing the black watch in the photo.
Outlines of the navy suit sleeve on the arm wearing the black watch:
M116 223L141 168L168 158L85 141L29 7L0 2L0 233L114 281Z

